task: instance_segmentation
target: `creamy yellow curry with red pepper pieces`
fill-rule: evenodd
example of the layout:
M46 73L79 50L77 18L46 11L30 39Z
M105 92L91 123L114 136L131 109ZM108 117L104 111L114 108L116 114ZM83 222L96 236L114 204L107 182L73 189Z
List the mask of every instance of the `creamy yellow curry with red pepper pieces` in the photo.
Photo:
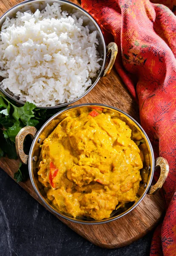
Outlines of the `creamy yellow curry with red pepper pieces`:
M38 179L61 212L102 220L135 200L141 168L129 126L97 107L67 116L44 140Z

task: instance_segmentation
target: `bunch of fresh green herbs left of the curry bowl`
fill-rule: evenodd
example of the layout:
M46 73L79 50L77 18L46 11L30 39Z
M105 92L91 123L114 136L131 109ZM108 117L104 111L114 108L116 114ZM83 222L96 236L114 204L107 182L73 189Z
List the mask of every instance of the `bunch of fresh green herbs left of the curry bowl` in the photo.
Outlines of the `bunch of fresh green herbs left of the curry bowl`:
M17 105L16 102L8 100L0 94L0 157L17 159L15 149L15 137L21 128L30 125L37 129L59 110L39 109L33 103L26 102L25 105ZM27 147L27 145L26 145ZM24 181L28 177L28 167L21 165L14 174L17 182Z

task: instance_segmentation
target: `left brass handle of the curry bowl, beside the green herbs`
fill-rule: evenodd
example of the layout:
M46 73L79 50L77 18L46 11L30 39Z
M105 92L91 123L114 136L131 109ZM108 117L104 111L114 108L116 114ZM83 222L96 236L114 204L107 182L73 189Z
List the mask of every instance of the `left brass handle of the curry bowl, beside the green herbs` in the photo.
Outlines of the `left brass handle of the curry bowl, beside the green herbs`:
M34 126L26 126L22 128L15 138L15 146L17 151L17 156L20 158L22 163L28 163L28 155L25 154L23 150L24 139L27 135L31 135L32 140L37 133L37 129Z

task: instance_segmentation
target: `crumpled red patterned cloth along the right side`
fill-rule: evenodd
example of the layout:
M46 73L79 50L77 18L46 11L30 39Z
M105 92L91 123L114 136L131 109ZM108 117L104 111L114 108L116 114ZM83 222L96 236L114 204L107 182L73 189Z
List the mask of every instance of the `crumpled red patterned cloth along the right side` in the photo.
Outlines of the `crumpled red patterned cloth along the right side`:
M115 41L115 67L139 102L142 127L155 156L170 172L164 184L167 212L154 233L150 255L176 255L176 1L82 0L99 23L105 40ZM175 2L175 3L174 3Z

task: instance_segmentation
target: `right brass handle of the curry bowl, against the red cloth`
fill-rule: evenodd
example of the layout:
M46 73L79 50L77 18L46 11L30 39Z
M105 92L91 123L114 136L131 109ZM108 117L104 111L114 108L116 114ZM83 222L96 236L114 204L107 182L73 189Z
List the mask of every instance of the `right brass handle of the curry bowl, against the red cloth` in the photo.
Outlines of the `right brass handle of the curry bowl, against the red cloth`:
M165 158L158 157L155 160L155 170L157 167L161 168L161 173L159 176L159 180L156 182L155 185L150 186L150 189L148 190L148 195L155 194L159 189L162 188L162 185L165 183L165 180L167 178L167 175L169 173L169 165Z

